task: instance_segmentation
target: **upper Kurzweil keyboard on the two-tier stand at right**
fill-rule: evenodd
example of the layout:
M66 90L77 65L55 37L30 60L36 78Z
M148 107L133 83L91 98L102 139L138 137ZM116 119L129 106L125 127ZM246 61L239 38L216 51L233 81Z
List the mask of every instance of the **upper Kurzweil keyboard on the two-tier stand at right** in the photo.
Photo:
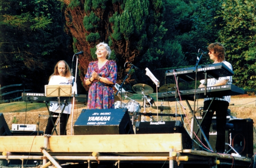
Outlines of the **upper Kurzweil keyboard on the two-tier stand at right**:
M207 73L207 78L216 78L232 76L234 72L228 68L224 63L214 63L209 65L201 65L197 67L197 80L205 79L205 72ZM194 81L196 78L196 72L193 67L186 67L180 69L166 70L165 76L172 75L179 76L179 78L184 81Z

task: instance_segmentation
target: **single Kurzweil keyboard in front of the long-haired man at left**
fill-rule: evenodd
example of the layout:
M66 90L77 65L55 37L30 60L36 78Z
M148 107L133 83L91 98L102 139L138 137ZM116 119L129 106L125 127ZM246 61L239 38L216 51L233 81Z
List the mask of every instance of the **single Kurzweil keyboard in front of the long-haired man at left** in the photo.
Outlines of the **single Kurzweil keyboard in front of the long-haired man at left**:
M66 100L67 102L73 102L73 97L46 97L45 94L40 93L22 93L22 100L24 102L37 102L43 103L43 101L56 101L56 102L63 102ZM76 94L75 95L75 103L76 104L87 104L87 94Z

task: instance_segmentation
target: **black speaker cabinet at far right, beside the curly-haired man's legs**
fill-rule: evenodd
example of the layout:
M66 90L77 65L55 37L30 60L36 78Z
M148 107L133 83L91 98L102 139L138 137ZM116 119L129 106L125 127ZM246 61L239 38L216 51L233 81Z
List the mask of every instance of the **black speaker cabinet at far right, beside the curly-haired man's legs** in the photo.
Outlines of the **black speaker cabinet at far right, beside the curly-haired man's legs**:
M253 155L253 120L233 119L229 121L234 129L229 131L231 146L241 156L252 157ZM232 153L235 153L231 150Z

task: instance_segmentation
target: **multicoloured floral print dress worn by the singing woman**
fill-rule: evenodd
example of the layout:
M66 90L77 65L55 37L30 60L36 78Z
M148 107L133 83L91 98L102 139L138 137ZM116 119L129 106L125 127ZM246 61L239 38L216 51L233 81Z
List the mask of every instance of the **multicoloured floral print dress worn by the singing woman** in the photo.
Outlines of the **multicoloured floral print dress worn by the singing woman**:
M98 61L90 62L85 80L91 77L93 71L110 82L116 83L117 65L115 61L108 60L101 69L98 69ZM95 79L88 92L87 109L114 109L113 86Z

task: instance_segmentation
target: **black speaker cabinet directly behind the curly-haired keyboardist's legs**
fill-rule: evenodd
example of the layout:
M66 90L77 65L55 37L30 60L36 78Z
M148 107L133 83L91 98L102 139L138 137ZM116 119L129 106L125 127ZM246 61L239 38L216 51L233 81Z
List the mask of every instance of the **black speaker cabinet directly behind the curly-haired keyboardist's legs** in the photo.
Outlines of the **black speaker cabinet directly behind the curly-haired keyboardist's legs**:
M230 119L230 116L227 116L227 122L226 123L228 123L229 119ZM199 123L201 123L202 117L197 117L197 120L199 121ZM194 124L194 132L197 133L197 129L199 129L199 127L197 125L197 122L195 121L193 124ZM213 152L215 152L216 151L215 145L216 145L216 140L217 140L217 131L213 129L213 125L216 125L216 116L213 116L210 131L208 133L209 134L209 143L210 143L211 147L213 148ZM201 138L203 138L203 136L201 136L200 131L197 133L197 137L200 140L201 140ZM197 138L195 138L195 140L197 140ZM228 130L226 130L225 143L228 143L228 141L229 141ZM200 143L200 142L197 140L197 143ZM199 149L199 146L196 143L194 143L193 146L194 146L194 148ZM225 145L225 149L228 151L228 146Z

